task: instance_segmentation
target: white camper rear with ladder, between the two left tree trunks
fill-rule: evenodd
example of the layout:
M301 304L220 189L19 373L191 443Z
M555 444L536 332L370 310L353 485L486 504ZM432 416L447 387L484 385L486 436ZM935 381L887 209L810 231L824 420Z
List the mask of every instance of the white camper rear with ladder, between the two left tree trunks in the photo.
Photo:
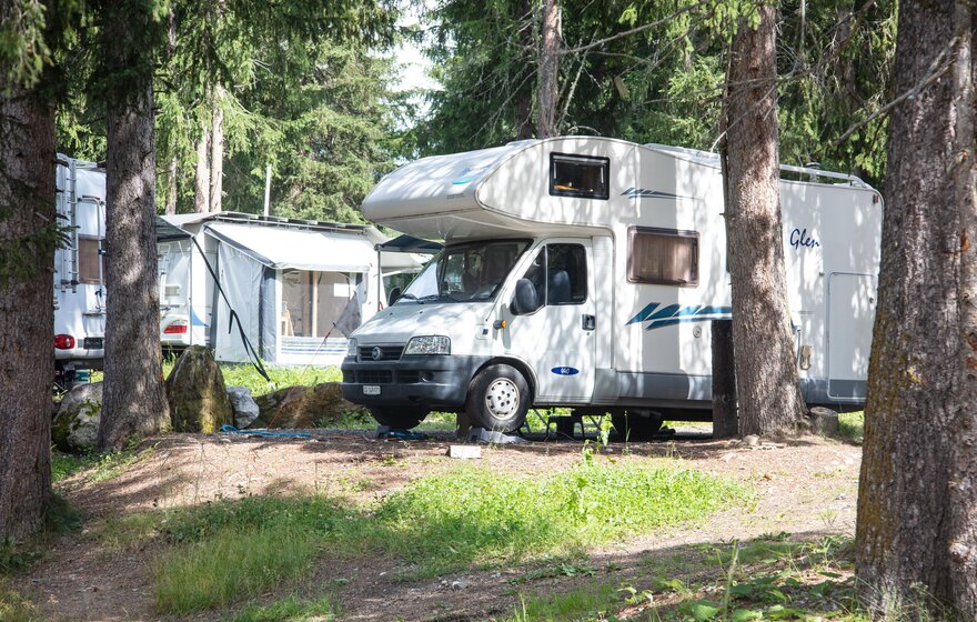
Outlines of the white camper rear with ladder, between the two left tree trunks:
M56 164L64 248L54 251L54 364L62 384L102 369L105 342L105 172L61 153Z

